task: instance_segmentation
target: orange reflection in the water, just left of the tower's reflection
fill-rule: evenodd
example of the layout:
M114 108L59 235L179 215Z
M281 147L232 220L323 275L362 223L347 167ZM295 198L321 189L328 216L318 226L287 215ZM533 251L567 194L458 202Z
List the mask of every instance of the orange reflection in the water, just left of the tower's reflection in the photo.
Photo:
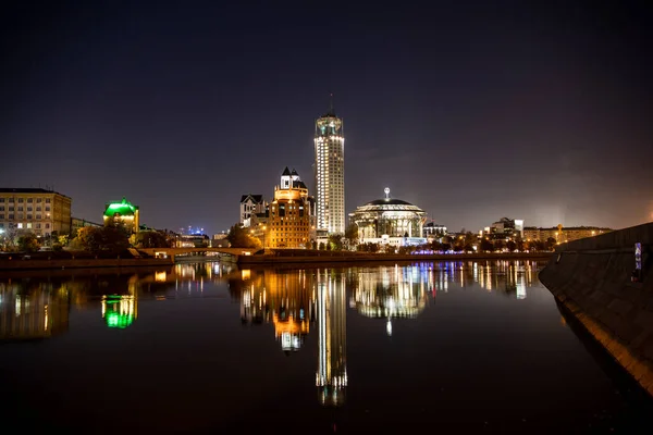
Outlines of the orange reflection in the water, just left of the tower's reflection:
M299 350L315 318L306 273L246 272L243 279L249 281L249 285L241 299L243 323L272 322L281 348Z

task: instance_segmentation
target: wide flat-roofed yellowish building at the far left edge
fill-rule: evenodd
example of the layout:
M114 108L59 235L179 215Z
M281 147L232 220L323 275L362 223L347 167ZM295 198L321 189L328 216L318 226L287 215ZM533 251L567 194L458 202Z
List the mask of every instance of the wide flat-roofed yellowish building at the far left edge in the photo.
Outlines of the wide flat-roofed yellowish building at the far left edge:
M65 195L41 188L0 188L0 233L71 234L71 203Z

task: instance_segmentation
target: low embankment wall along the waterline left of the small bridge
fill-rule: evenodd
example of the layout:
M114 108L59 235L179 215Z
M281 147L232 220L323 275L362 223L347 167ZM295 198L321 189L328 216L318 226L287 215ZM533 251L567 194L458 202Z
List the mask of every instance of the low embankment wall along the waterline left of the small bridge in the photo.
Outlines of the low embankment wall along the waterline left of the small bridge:
M63 260L0 260L0 272L37 269L79 269L79 268L134 268L171 265L168 259L63 259Z

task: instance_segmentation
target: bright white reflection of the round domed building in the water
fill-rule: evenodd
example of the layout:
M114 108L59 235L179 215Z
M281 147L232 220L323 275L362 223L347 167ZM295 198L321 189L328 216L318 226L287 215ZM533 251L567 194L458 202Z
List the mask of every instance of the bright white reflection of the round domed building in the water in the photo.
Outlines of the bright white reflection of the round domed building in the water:
M423 311L429 279L415 266L379 268L379 273L358 275L354 304L362 315L387 319L387 335L392 335L392 318L414 319Z

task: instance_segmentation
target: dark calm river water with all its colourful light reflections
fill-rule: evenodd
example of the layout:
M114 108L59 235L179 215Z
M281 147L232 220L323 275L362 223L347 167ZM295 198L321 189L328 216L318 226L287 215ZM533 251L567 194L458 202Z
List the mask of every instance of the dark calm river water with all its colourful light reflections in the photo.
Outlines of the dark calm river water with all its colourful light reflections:
M0 275L0 427L652 433L542 265Z

